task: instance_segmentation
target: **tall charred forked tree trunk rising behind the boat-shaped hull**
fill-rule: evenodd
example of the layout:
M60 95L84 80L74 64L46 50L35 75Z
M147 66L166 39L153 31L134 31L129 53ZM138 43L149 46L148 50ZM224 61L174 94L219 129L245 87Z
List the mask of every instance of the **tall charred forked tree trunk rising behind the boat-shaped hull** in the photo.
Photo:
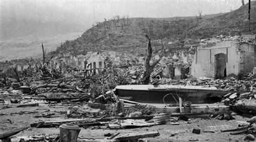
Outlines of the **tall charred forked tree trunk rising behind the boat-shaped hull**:
M145 72L142 78L142 84L149 84L150 75L153 72L154 66L156 66L156 64L160 61L160 59L154 62L152 65L150 65L150 60L152 58L151 39L147 35L145 35L145 37L147 38L147 40L149 40L149 42L147 44L147 57L145 60Z

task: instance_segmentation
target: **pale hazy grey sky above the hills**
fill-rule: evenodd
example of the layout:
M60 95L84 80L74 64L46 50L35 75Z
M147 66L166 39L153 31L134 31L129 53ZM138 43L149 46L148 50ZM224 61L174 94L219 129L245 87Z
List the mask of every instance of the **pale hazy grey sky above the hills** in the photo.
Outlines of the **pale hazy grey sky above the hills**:
M229 12L241 5L241 0L1 0L0 17L93 24L116 15L176 17L199 15L198 11L208 15Z

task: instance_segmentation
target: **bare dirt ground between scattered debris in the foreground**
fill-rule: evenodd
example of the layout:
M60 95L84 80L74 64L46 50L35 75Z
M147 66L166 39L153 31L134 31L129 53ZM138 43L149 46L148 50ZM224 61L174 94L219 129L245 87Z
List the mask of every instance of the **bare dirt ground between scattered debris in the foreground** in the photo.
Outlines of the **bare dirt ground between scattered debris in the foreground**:
M39 106L16 107L17 104L11 104L8 97L1 96L0 101L0 131L15 129L18 127L30 126L31 123L38 121L67 120L66 111L71 107L80 107L83 104L48 104L39 101ZM25 101L25 100L24 100ZM26 100L27 101L27 100ZM24 112L24 113L21 113ZM40 117L42 114L54 113L51 118ZM153 140L165 139L173 141L243 141L245 134L231 135L230 132L220 132L224 129L232 129L238 126L237 121L246 121L249 118L234 116L235 120L217 120L204 118L191 118L190 121L179 120L179 125L154 125L151 127L139 127L135 129L116 129L110 130L106 126L91 126L82 128L79 138L86 139L106 139L105 133L119 135L130 132L151 132L158 131L159 137ZM70 118L74 119L74 118ZM174 118L177 119L177 118ZM192 129L199 127L200 134L192 133ZM56 137L59 134L58 128L39 128L31 127L15 135L17 136L49 136ZM174 136L172 136L172 134Z

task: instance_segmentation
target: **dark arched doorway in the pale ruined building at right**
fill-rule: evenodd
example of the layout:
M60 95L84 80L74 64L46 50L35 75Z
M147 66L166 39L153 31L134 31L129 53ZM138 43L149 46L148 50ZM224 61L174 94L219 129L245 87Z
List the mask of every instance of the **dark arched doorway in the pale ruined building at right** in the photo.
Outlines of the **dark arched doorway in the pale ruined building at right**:
M225 78L226 75L226 54L215 55L215 78Z

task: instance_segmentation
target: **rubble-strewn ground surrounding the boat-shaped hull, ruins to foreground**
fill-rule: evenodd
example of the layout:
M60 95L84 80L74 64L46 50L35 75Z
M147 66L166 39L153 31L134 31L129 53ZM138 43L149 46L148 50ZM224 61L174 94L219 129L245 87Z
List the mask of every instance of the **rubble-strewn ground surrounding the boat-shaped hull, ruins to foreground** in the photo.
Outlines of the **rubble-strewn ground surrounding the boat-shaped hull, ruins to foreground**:
M222 103L213 104L191 104L179 100L177 104L168 106L144 104L133 102L131 97L118 97L115 91L111 91L116 85L138 84L142 67L110 67L103 73L92 76L87 71L52 73L45 66L39 72L23 76L19 83L15 76L21 76L22 72L2 74L0 136L3 138L3 132L6 131L25 128L11 137L11 140L56 141L59 140L58 127L62 124L81 127L78 136L80 141L122 140L119 137L131 132L145 132L145 135L138 138L143 139L145 136L144 140L153 141L240 141L246 134L254 134L254 121L247 121L255 114L255 79L151 79L153 84L157 81L157 84L201 85L234 91L220 97ZM152 73L152 76L156 74ZM240 103L239 106L243 99L252 102L245 103L246 105ZM179 103L182 103L181 106ZM227 107L223 107L223 104ZM172 109L168 109L169 107ZM179 113L179 107L184 107L182 113ZM190 108L194 112L188 113L187 109ZM200 111L200 108L207 110ZM245 111L247 115L244 115ZM146 135L151 132L152 135ZM160 134L160 137L154 137L153 132L156 132L156 136Z

